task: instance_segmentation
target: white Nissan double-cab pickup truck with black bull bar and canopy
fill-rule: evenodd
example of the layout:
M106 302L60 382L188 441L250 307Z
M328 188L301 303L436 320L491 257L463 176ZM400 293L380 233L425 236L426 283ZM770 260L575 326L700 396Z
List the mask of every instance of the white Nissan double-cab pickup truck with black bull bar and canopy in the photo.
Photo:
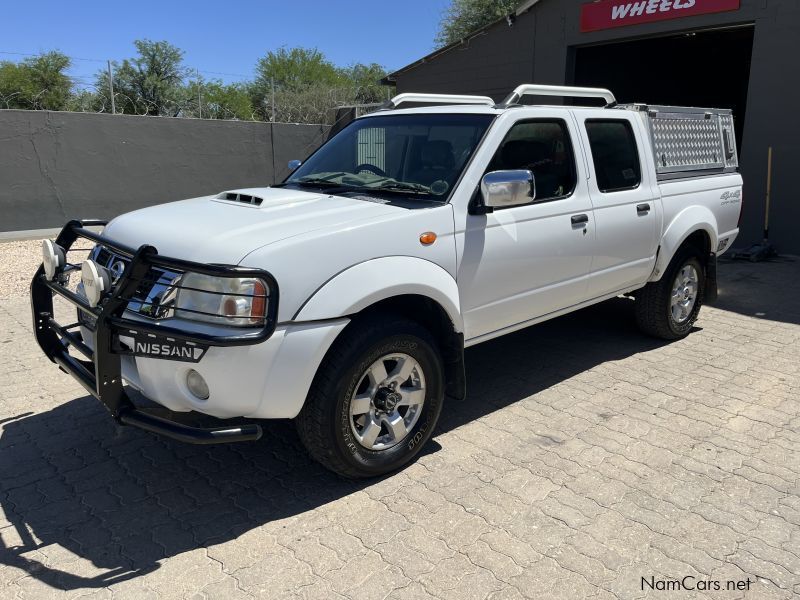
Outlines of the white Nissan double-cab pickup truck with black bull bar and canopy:
M38 342L120 424L215 443L294 419L326 467L386 473L465 396L468 346L621 294L645 333L686 336L742 203L730 111L588 88L401 94L290 166L278 185L43 242ZM70 262L78 237L96 246ZM54 296L77 323L55 320ZM172 412L239 419L190 427L123 381Z

